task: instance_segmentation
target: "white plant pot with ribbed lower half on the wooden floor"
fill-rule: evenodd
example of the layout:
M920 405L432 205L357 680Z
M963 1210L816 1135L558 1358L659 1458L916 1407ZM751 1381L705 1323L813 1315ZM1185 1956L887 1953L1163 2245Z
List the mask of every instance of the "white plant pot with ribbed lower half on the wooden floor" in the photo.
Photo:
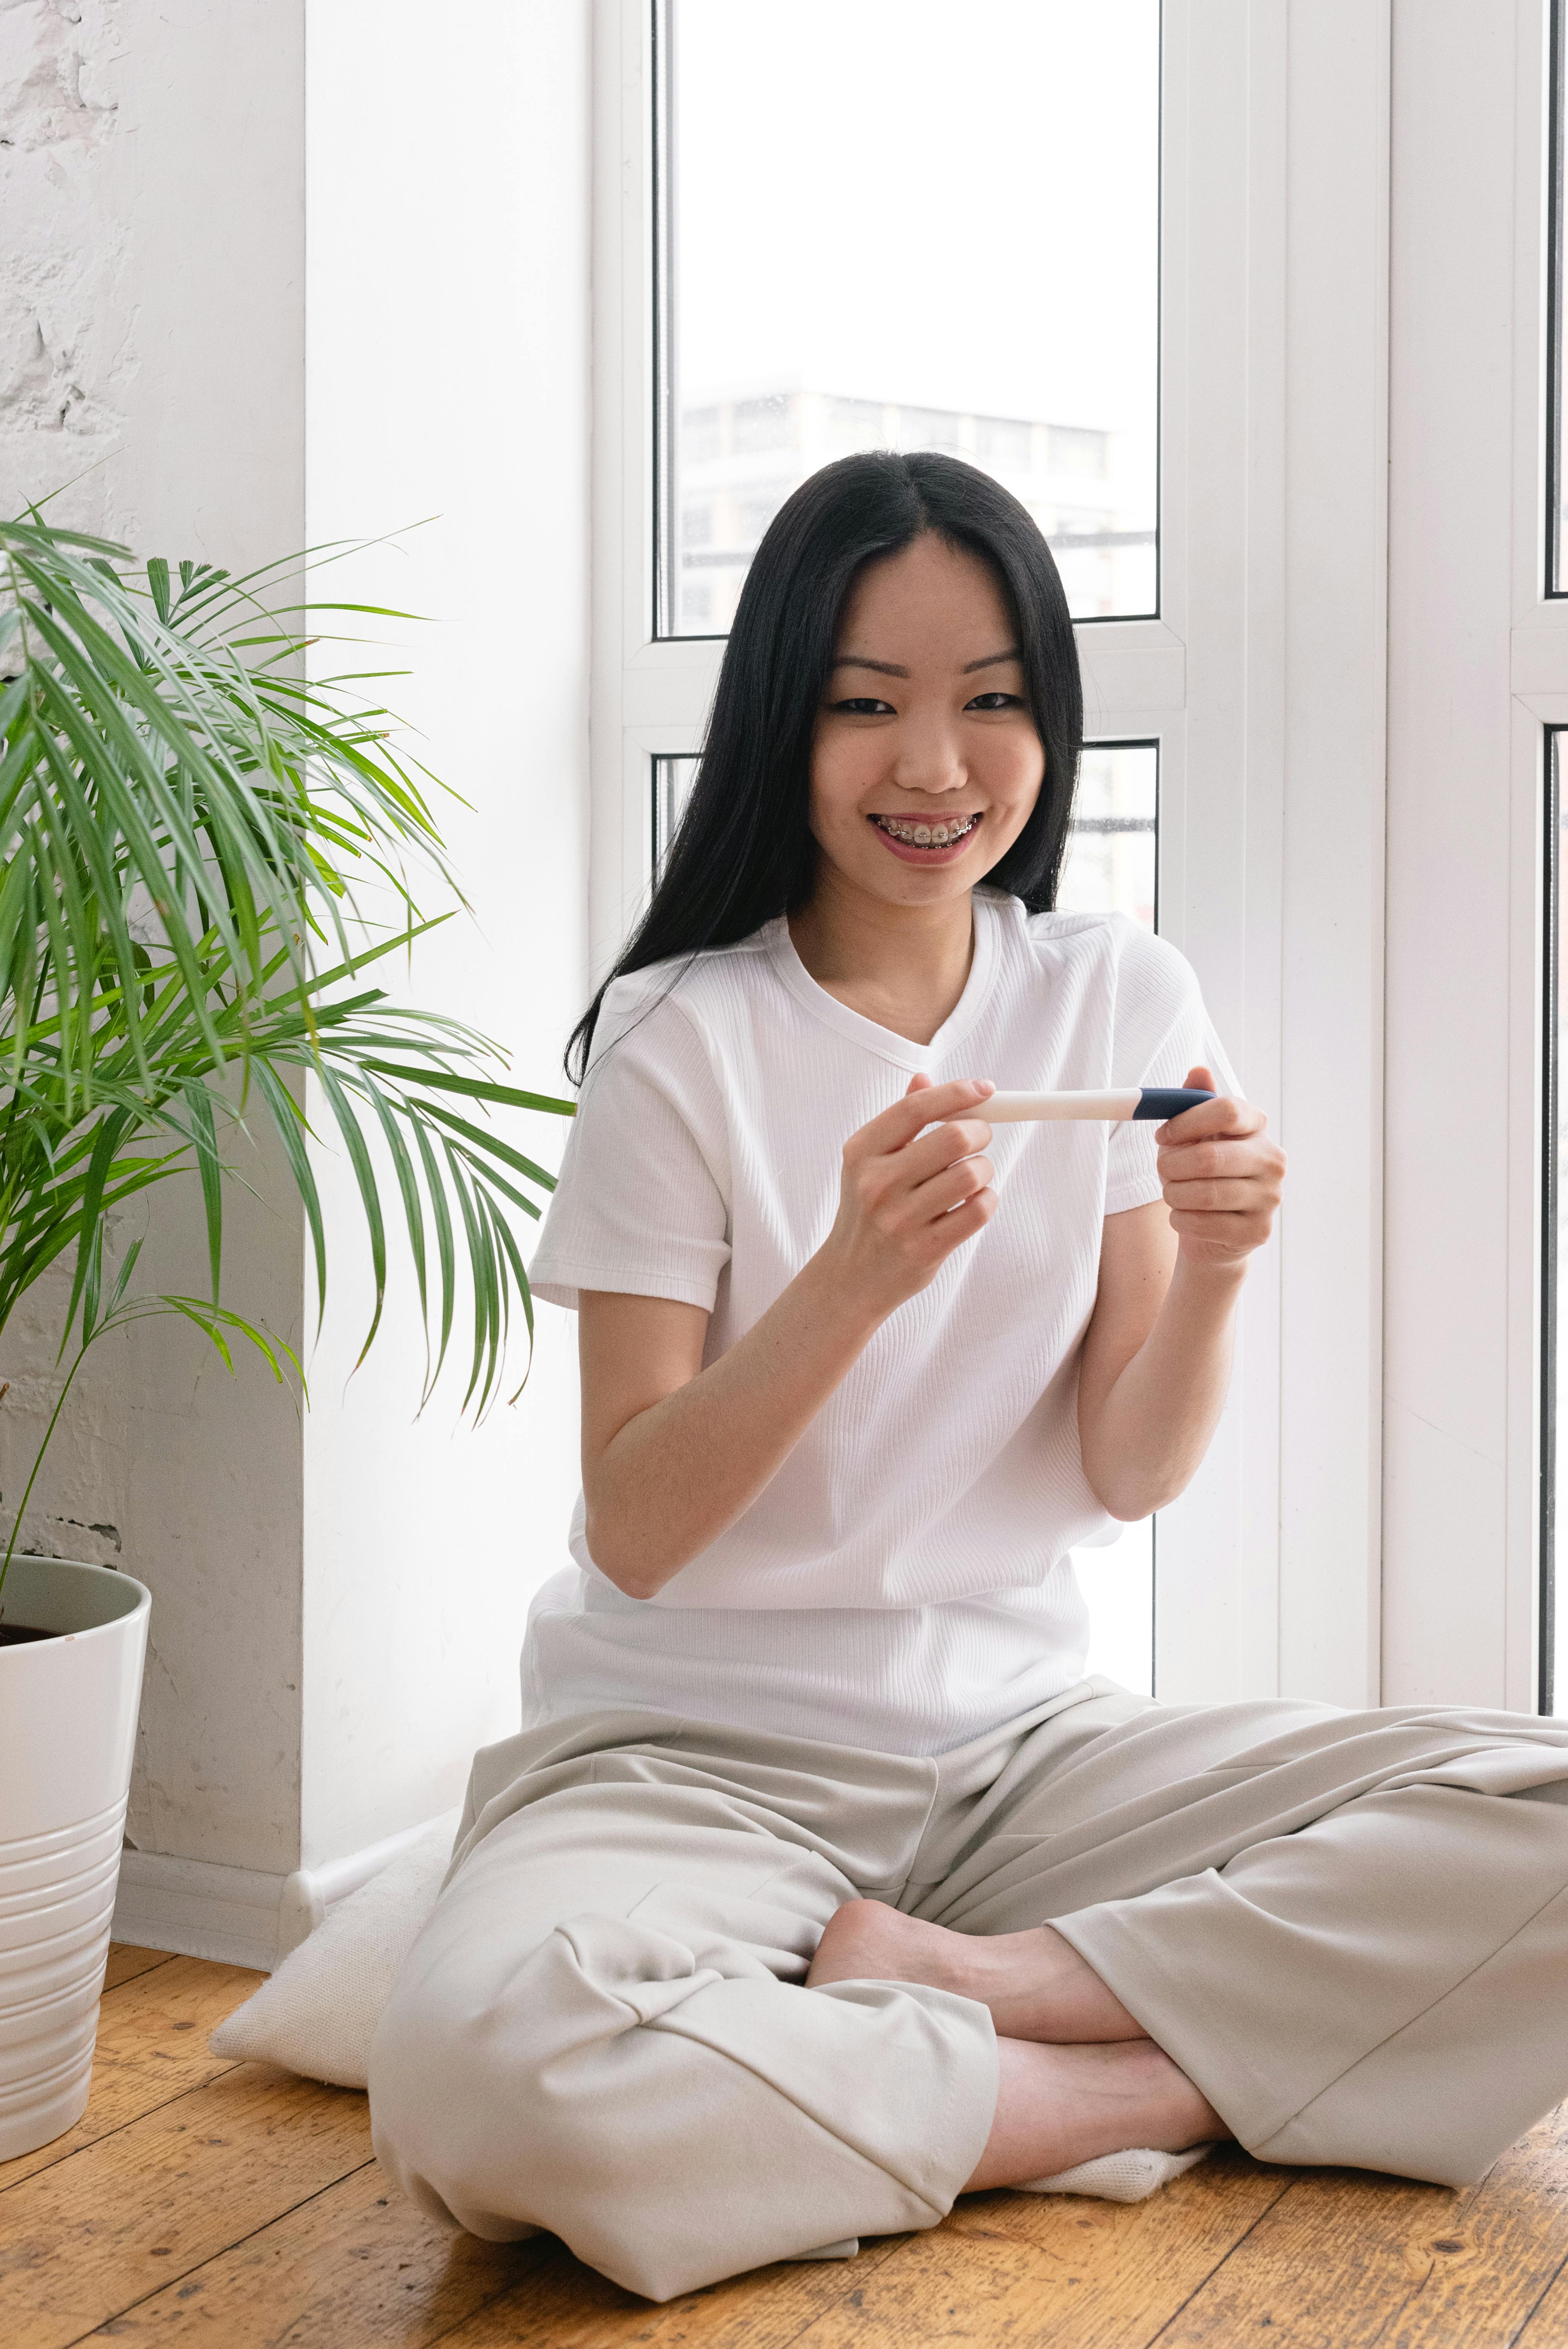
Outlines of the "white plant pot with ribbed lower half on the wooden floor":
M14 1557L0 1647L0 2161L82 2119L115 1914L150 1593Z

